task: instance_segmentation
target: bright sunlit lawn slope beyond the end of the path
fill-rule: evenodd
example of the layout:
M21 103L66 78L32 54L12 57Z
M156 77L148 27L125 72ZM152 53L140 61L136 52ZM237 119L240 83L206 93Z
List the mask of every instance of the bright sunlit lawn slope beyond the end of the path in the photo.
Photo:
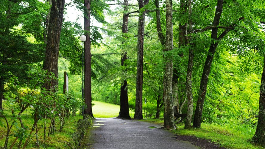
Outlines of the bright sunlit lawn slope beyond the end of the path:
M120 106L101 101L92 101L92 112L94 117L118 117L120 112Z

